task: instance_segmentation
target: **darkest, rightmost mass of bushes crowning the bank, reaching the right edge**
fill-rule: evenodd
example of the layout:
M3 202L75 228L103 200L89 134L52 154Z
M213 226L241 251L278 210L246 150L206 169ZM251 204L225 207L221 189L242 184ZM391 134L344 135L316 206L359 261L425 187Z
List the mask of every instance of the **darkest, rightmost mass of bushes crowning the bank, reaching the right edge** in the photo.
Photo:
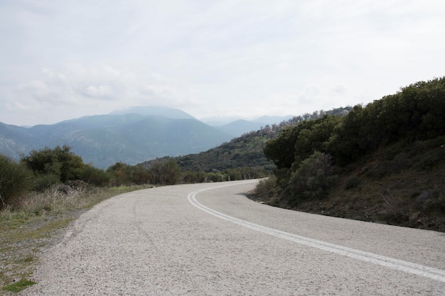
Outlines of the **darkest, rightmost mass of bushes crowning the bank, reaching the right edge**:
M354 106L334 129L327 150L345 165L404 139L427 140L445 131L445 77L417 82L365 108Z

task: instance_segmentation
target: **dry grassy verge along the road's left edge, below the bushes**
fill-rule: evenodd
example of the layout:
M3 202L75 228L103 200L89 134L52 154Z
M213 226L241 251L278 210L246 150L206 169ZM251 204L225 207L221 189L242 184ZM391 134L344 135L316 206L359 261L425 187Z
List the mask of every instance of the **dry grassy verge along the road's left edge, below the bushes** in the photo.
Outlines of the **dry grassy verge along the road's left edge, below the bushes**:
M65 229L95 204L125 192L151 187L53 188L33 193L16 209L0 212L0 295L14 295L29 285L43 251L63 239Z

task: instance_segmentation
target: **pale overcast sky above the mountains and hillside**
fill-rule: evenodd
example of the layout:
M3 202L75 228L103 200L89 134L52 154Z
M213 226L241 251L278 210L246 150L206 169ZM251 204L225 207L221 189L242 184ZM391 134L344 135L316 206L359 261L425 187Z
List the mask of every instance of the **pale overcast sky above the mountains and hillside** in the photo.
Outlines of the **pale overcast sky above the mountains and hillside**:
M442 0L0 0L0 121L368 104L445 76Z

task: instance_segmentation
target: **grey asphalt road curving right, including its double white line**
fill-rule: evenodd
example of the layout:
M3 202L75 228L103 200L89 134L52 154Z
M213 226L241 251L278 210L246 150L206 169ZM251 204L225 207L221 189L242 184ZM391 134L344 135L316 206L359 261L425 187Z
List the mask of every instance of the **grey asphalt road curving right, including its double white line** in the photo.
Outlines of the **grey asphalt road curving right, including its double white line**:
M445 295L445 234L269 207L254 184L108 199L21 295Z

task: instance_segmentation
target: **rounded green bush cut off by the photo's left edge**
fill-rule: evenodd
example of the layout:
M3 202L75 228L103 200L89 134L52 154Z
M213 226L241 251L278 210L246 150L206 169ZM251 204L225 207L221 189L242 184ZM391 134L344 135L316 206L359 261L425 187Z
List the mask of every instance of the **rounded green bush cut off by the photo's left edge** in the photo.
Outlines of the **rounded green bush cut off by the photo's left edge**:
M21 163L0 154L0 209L32 187L32 172Z

